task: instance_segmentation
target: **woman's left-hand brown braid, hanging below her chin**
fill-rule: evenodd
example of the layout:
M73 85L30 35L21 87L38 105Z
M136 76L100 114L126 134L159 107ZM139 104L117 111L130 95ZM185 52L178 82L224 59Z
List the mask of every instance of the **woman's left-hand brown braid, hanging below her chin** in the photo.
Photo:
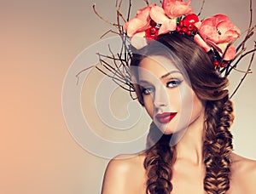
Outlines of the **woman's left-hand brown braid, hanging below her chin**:
M172 135L160 133L152 123L147 140L150 148L146 151L144 160L144 168L148 174L146 191L150 194L169 194L172 191L172 164L175 162L176 148L169 145Z

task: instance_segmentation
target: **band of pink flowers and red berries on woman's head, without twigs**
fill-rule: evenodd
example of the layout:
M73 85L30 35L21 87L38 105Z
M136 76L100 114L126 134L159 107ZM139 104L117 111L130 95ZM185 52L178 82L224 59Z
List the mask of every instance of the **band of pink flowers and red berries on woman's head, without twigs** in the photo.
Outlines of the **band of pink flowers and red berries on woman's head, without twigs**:
M236 48L232 43L240 37L241 31L224 14L215 14L200 21L198 15L193 14L189 3L190 0L164 0L162 7L154 3L139 9L136 18L125 23L125 31L131 37L131 45L137 49L143 48L150 40L157 40L160 34L177 32L194 37L195 43L207 53L214 48L218 51L218 59L226 62L233 60ZM215 66L220 66L218 59L214 61ZM226 66L224 61L222 66Z

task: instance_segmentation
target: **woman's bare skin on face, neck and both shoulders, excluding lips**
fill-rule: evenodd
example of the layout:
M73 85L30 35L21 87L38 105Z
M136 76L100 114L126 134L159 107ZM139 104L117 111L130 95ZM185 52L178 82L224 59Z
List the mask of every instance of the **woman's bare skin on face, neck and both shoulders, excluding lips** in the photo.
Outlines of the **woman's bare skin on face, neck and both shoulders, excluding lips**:
M189 87L189 83L184 80L181 73L178 73L177 68L170 65L170 61L160 58L157 60L161 60L161 65L149 58L141 62L140 67L147 71L140 71L139 79L144 88L143 101L148 115L165 134L178 134L177 160L173 165L172 193L205 194L206 191L203 189L205 165L202 158L203 102L197 98ZM169 74L170 72L175 73ZM162 96L162 94L166 95ZM189 102L193 104L192 109L188 108ZM190 114L183 113L184 107L190 110ZM160 126L154 117L159 111L175 111L177 116L170 123ZM189 119L183 119L183 117L189 117ZM188 123L183 124L181 120L188 121ZM104 175L102 194L146 193L147 176L143 168L144 159L143 153L113 158L108 163ZM231 154L230 159L230 191L227 194L255 194L256 162L235 153Z

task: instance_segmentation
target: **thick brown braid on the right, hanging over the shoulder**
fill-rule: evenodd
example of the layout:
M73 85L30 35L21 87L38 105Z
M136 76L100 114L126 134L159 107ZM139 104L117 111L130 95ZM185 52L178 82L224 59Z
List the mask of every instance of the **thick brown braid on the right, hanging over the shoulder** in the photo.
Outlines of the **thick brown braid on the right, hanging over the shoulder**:
M204 189L209 194L224 194L230 189L230 153L233 145L229 129L234 120L232 113L228 96L223 100L207 101Z

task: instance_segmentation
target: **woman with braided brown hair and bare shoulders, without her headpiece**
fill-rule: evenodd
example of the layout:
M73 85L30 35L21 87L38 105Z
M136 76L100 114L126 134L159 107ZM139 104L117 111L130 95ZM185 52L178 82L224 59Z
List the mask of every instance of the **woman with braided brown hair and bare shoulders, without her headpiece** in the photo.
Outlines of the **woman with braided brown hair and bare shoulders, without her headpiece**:
M256 162L232 152L233 106L216 56L177 31L156 39L131 57L152 118L148 150L111 160L102 194L256 193Z

